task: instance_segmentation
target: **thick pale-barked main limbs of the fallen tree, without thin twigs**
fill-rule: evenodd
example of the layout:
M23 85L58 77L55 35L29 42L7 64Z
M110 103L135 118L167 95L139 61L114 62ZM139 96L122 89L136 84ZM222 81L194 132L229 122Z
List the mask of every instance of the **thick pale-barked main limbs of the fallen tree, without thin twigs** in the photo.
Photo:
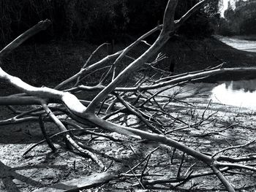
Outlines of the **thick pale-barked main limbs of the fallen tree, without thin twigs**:
M174 85L179 82L185 82L187 80L195 80L200 77L207 77L209 75L214 74L220 74L223 72L233 72L233 71L251 71L252 69L212 69L208 70L206 72L198 72L195 74L187 74L183 75L181 77L176 77L172 80L166 80L163 82L158 82L154 85L146 85L146 86L140 86L138 88L118 88L118 85L120 85L121 82L124 80L127 80L129 77L132 76L132 74L140 68L143 64L145 64L149 58L151 58L152 55L155 55L158 53L159 49L165 45L165 43L170 39L170 37L174 34L176 29L184 23L187 18L189 18L190 15L192 15L193 12L195 12L197 9L199 9L203 3L206 1L200 1L195 7L189 10L187 14L185 14L180 20L175 21L174 20L174 13L176 10L176 4L178 3L178 0L169 0L167 3L167 7L165 9L165 15L163 19L162 26L157 26L153 30L149 31L147 34L140 37L137 41L129 45L124 50L119 51L118 53L115 53L113 55L109 55L106 58L103 58L101 61L92 64L91 66L87 66L84 69L81 69L80 72L73 75L69 79L65 80L64 82L61 82L59 85L56 86L55 89L53 88L36 88L34 86L31 86L27 84L26 82L23 82L18 77L14 77L10 74L7 74L7 72L4 72L3 69L0 68L0 80L7 81L10 85L15 86L15 88L18 88L20 91L26 93L27 96L24 97L8 97L4 98L6 99L5 102L2 99L0 99L0 104L40 104L42 105L45 112L49 115L50 119L56 124L56 126L59 127L59 130L61 132L65 132L64 137L69 141L69 143L75 147L76 150L78 150L80 153L90 155L91 158L103 169L105 166L102 164L101 161L99 161L93 153L91 153L88 150L83 149L78 145L72 137L67 133L67 128L64 126L64 124L59 120L59 118L56 117L56 115L53 114L53 112L50 111L48 107L48 102L55 101L57 103L64 104L64 107L66 107L67 111L70 113L69 117L76 120L78 123L83 123L87 125L88 123L93 123L94 126L97 126L99 128L108 130L108 131L114 131L119 134L125 134L129 137L135 137L137 139L147 139L149 141L159 142L164 145L174 147L178 150L181 150L183 153L187 153L188 155L191 155L194 158L197 158L200 161L203 161L206 165L211 167L214 174L217 175L219 180L225 185L225 188L227 191L234 191L232 185L228 183L226 178L222 175L222 172L219 171L218 166L232 166L230 164L220 164L217 162L217 160L211 155L206 155L204 153L200 153L197 150L192 149L191 147L187 147L186 145L181 144L181 142L177 142L174 139L170 139L166 137L163 134L154 134L149 131L142 131L136 128L131 128L127 126L121 126L116 123L109 122L107 120L103 120L99 116L95 115L97 107L101 104L101 102L108 96L108 94L113 93L113 91L137 91L137 90L149 90L149 89L155 89L155 88L161 88L167 85ZM7 55L15 49L15 47L18 47L22 42L24 42L26 39L37 33L38 31L45 29L49 25L49 21L45 20L38 25L34 26L33 28L29 29L29 31L26 31L24 34L20 35L15 41L11 42L10 45L7 45L7 47L4 48L0 52L0 58L2 58L4 55ZM162 28L162 29L161 29ZM129 66L127 66L126 69L124 69L120 74L117 75L116 78L113 79L112 82L110 82L109 85L102 87L98 86L97 88L102 89L102 91L97 94L97 96L89 102L89 106L86 107L75 95L72 93L64 92L64 91L58 91L57 89L62 88L64 85L67 85L67 83L72 82L73 80L77 80L78 77L80 77L83 72L88 72L89 70L96 69L99 65L104 63L105 61L109 61L110 58L116 58L116 61L113 65L118 64L118 62L121 60L121 58L124 57L127 52L137 45L141 40L143 40L145 37L148 37L148 35L152 34L154 31L157 31L161 29L161 32L159 34L159 37L154 42L151 47L146 50L145 53L140 55L139 58L135 59ZM118 56L119 55L119 56ZM256 69L253 69L256 70ZM20 102L18 102L18 99L20 99ZM131 109L130 109L131 110ZM136 114L136 112L135 112ZM137 114L138 115L138 114ZM145 120L145 119L144 119ZM147 124L147 123L146 123ZM147 124L150 126L150 124ZM236 165L233 165L236 167ZM244 167L248 168L248 167Z

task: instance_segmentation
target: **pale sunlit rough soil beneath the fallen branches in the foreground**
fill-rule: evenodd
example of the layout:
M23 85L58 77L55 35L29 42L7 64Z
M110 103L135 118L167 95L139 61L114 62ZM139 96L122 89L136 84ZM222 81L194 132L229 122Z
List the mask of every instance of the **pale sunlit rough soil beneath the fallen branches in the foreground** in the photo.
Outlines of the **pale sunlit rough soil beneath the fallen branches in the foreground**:
M206 86L203 83L196 85L188 84L176 88L173 91L163 93L165 96L172 95L177 90L181 92L177 101L168 104L170 114L185 120L187 123L195 123L200 120L209 101L209 91L214 84ZM159 98L159 102L164 104L167 100ZM194 107L193 107L194 106ZM20 107L19 107L20 109ZM20 109L21 110L21 109ZM217 112L217 113L215 113ZM193 147L201 152L215 153L230 145L242 145L255 139L255 112L252 110L241 109L238 107L223 106L221 104L211 104L206 110L205 116L213 114L206 125L197 128L187 128L181 131L175 131L169 137L181 139L181 142ZM13 114L7 107L1 107L1 119L12 117ZM132 117L128 123L132 123ZM165 120L163 117L162 120ZM230 128L227 128L229 127ZM48 134L56 133L56 127L53 124L47 124ZM38 123L20 123L10 126L1 126L0 134L0 170L1 170L1 191L34 191L46 185L61 183L74 178L88 176L99 173L101 170L88 158L83 158L78 154L67 150L61 137L53 139L58 151L52 153L48 145L39 145L30 153L23 156L23 153L33 144L39 142L42 134ZM178 126L176 127L178 128ZM227 128L227 129L225 129ZM225 131L222 131L224 130ZM173 149L157 143L141 143L119 134L110 134L111 136L124 139L124 142L112 142L109 139L97 137L91 140L90 135L80 135L83 143L89 143L100 153L110 155L123 162L120 164L114 162L111 164L109 158L103 158L106 166L118 172L126 172L127 167L135 166L138 162L155 147L160 147L150 158L147 171L149 174L159 174L161 176L146 177L146 180L159 178L168 178L175 176L178 165L181 161L181 153L176 152L172 155ZM250 145L237 150L227 151L225 155L243 155L246 153L256 153L255 145ZM207 171L206 166L199 161L187 157L185 158L182 173L195 164L193 169L202 172ZM139 166L135 172L141 172L143 165ZM254 191L255 174L246 172L245 174L234 174L228 177L230 183L236 188L244 188L243 191ZM134 186L137 183L134 177L120 177L105 185L99 185L88 191L138 191L141 187ZM203 177L186 183L183 187L189 188L197 183L194 190L217 191L223 189L216 177ZM157 189L156 189L157 188ZM157 185L155 191L172 191L170 185ZM86 191L86 190L85 190ZM173 190L174 191L174 190Z

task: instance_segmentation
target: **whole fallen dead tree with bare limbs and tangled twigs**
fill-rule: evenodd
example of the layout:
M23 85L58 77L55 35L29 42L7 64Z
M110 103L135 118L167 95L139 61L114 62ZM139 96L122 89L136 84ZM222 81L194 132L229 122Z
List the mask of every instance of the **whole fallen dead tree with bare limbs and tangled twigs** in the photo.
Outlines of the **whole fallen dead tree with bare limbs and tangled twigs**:
M157 55L159 49L165 45L170 37L174 35L177 28L180 27L184 21L189 18L190 15L192 15L195 11L197 11L197 9L200 9L200 7L206 3L206 1L200 1L179 20L174 20L177 2L178 0L168 1L162 25L159 25L151 31L148 31L124 50L120 50L113 55L108 55L107 57L102 58L102 60L94 64L89 65L89 60L86 61L86 64L84 64L84 66L80 69L80 72L74 74L72 77L69 77L69 79L61 82L59 85L56 85L55 88L37 88L31 86L28 83L23 82L23 80L20 80L18 77L14 77L11 74L4 72L4 70L0 68L0 79L2 81L8 82L10 85L13 85L15 88L18 88L22 92L12 96L0 97L0 104L9 106L37 105L37 107L34 107L33 110L18 112L18 115L13 118L1 120L0 125L21 123L26 121L38 121L42 129L42 134L45 136L45 141L43 142L48 142L48 145L54 151L55 147L51 142L50 137L45 134L44 122L55 123L59 128L59 134L61 134L66 139L67 143L69 143L69 147L83 155L89 156L89 158L91 158L99 167L101 167L103 171L105 171L107 168L98 158L97 151L77 141L77 137L75 137L73 134L75 131L83 131L86 134L94 134L100 137L107 137L114 142L116 141L115 138L110 137L105 133L87 130L88 127L97 127L98 130L116 132L118 134L124 134L135 139L146 139L150 142L157 142L168 147L173 147L173 149L180 150L181 153L183 153L181 157L181 164L178 167L177 177L164 180L143 180L143 174L145 172L144 170L139 176L140 180L138 180L138 185L141 187L145 188L146 185L155 185L157 183L176 183L176 185L173 185L173 188L177 188L178 186L187 183L188 180L192 180L195 177L203 177L214 174L219 178L227 191L235 191L233 185L230 184L224 174L227 174L232 169L245 169L255 172L256 168L254 164L235 164L235 162L251 162L256 159L256 155L249 154L245 155L244 158L219 155L219 153L222 153L223 151L233 149L234 146L231 148L225 148L217 153L203 153L200 152L200 150L196 150L195 148L189 147L182 143L180 139L175 136L175 134L173 137L170 137L175 131L183 130L186 128L198 128L202 126L203 123L206 123L211 118L211 115L206 118L204 116L205 112L203 112L202 119L199 122L197 121L194 124L186 123L183 120L174 118L172 115L170 115L169 112L165 109L166 104L159 104L157 97L159 97L160 93L166 91L167 89L192 80L197 80L225 72L252 72L256 71L256 69L225 69L222 68L222 65L220 65L199 72L162 77L159 80L154 80L153 82L140 79L132 86L119 87L122 85L122 82L129 81L129 78L135 74L135 72L138 71L138 69L140 69L144 64L147 64L148 68L154 67L154 64L162 58L161 55L158 55L155 61L148 64L147 62L150 61L152 55ZM39 22L36 26L30 28L25 33L21 34L20 37L15 39L10 43L10 45L7 45L7 47L4 47L4 49L1 50L0 58L4 58L4 56L9 54L21 43L26 41L26 39L29 39L29 37L33 36L37 32L44 30L49 25L50 20L44 20ZM129 64L129 66L127 66L119 74L116 74L116 67L121 63L122 59L129 57L129 51L141 43L143 39L156 31L160 31L160 33L154 44L150 45L148 50L146 50L145 53L140 55L138 58L132 58L132 63ZM95 52L97 52L97 50ZM83 85L83 82L85 82L84 79L86 74L97 70L106 69L104 66L106 62L113 59L113 64L108 66L108 72L102 74L102 78L99 80L99 82L97 82L96 85ZM96 91L98 93L97 96L95 96L91 101L81 100L75 96L77 93L86 91ZM154 107L152 108L152 103L154 103L155 109ZM208 107L206 107L206 110L207 108ZM15 111L13 107L10 107L10 109ZM167 119L172 120L173 123L181 123L184 126L173 130L172 126L170 126L171 123L163 123L162 118L158 117L157 115L152 115L153 113L159 116L165 115ZM65 115L65 118L61 118L63 115ZM123 117L126 115L133 115L138 119L138 122L135 123L136 126L121 125L120 122L121 120L125 120ZM69 129L68 127L72 127L73 129ZM54 136L51 138L53 137ZM252 145L253 143L254 141L251 141L245 145L236 146L235 148ZM36 145L33 147L35 146ZM29 150L31 150L31 148ZM29 150L27 153L29 153ZM186 174L181 176L181 167L185 158L184 154L190 155L198 161L203 162L203 164L208 166L208 168L211 170L208 172L193 173L192 166L190 166L189 169L187 169ZM148 156L148 160L149 158L150 155ZM132 172L132 170L133 169L130 169L127 174ZM136 177L135 173L133 173L133 175ZM116 177L118 176L115 174L113 178ZM80 186L79 188L83 188L83 186Z

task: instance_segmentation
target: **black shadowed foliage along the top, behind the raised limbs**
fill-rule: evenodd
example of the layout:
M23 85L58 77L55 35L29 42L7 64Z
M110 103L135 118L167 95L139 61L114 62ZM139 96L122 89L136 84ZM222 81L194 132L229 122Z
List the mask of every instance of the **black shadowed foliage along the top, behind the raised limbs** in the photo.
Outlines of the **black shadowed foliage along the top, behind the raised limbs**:
M179 1L176 18L198 0ZM37 41L78 39L105 42L142 34L162 23L167 0L0 0L0 42L7 43L46 18L53 25L34 37ZM214 33L219 15L218 1L211 1L178 31L188 37ZM43 38L42 38L43 37Z

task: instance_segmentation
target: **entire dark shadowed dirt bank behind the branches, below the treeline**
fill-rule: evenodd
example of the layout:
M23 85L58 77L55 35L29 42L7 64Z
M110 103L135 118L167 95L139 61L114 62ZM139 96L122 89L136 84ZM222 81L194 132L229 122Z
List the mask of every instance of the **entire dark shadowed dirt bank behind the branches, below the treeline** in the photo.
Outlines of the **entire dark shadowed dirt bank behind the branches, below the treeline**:
M128 42L119 43L114 46L114 51L121 50L128 44ZM21 45L12 55L4 59L2 67L31 85L52 86L78 72L96 47L97 45L81 41ZM136 58L147 47L141 43L129 55ZM175 37L167 42L161 52L167 58L160 61L157 67L167 71L173 70L175 74L206 69L223 62L225 62L224 67L256 66L256 53L236 50L213 37L208 39ZM108 48L103 47L97 55L94 55L91 62L99 61L107 54ZM120 69L130 62L131 60L124 59ZM91 81L95 78L98 78L97 73L91 75ZM4 90L7 91L6 88L9 88L9 86L4 88L2 86L3 84L0 85L1 95Z

